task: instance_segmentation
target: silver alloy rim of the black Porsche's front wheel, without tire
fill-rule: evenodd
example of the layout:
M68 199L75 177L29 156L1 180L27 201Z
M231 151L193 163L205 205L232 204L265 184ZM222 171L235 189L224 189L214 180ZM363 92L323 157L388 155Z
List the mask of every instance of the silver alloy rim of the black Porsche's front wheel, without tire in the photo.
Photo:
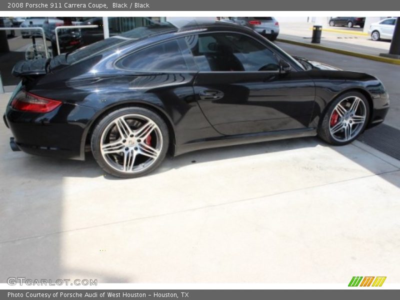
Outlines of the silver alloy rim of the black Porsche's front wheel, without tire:
M337 141L348 141L362 129L366 120L364 102L349 96L336 104L329 117L330 135Z

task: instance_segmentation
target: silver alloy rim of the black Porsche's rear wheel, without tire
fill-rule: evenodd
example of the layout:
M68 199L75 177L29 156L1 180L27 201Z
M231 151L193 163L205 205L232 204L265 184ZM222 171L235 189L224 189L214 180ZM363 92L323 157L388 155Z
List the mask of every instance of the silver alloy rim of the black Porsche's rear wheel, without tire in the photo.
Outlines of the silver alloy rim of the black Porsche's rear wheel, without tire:
M103 130L100 152L115 170L141 172L158 158L162 149L158 125L142 114L130 113L112 120Z

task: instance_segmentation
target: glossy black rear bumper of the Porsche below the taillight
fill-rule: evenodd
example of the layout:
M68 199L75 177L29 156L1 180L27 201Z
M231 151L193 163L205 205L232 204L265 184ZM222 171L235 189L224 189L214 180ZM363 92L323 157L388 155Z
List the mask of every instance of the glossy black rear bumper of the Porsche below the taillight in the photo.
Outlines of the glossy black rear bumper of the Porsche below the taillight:
M19 111L8 106L4 120L14 136L11 148L35 155L84 159L84 136L95 112L93 108L69 103L48 113Z

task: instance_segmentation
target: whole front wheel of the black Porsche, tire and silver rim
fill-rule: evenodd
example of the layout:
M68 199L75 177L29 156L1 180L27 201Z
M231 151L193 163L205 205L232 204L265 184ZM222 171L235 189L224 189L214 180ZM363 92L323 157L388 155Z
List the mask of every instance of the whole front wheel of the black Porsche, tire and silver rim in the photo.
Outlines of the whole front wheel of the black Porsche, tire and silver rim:
M369 105L365 96L351 91L332 101L318 128L318 136L334 145L344 145L362 133L367 124Z

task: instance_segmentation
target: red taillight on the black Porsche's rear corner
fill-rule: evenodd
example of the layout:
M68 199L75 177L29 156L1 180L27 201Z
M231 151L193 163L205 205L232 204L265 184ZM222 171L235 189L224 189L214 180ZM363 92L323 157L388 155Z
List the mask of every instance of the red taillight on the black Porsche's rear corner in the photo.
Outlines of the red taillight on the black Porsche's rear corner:
M11 101L14 109L30 112L49 112L61 105L61 101L43 98L26 91L18 92Z

